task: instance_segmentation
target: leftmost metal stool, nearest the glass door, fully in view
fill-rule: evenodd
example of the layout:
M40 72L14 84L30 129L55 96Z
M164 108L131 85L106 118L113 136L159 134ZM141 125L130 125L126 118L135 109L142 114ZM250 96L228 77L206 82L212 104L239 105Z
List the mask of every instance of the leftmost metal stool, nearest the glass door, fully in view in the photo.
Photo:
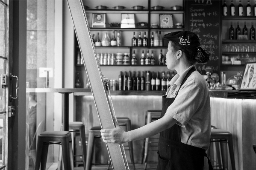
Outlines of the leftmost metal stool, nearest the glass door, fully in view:
M74 170L71 133L68 131L45 131L38 135L35 170L45 170L49 144L62 145L62 157L65 170Z

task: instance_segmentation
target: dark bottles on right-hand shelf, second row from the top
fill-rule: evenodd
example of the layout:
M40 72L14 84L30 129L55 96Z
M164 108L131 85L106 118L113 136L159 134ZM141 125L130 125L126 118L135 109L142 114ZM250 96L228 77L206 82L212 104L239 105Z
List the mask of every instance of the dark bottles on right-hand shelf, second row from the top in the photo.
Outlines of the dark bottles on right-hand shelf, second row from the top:
M236 32L235 32L236 30ZM242 36L241 36L242 35ZM230 24L230 40L255 40L255 28L253 27L253 22L252 22L252 27L250 28L250 37L248 37L248 29L246 27L246 22L244 22L244 28L243 32L241 32L241 28L239 26L239 22L237 22L237 27L234 29L233 27L233 22Z

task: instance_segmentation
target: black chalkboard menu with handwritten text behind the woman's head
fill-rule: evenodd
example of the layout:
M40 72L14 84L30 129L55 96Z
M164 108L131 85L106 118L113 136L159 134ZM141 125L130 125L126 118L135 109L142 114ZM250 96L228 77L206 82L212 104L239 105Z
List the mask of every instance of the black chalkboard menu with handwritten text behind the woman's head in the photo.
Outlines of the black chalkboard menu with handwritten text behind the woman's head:
M196 65L197 70L205 75L206 67L211 66L213 72L219 74L221 43L221 1L220 0L186 0L186 30L194 32L200 39L201 46L210 52L207 63Z

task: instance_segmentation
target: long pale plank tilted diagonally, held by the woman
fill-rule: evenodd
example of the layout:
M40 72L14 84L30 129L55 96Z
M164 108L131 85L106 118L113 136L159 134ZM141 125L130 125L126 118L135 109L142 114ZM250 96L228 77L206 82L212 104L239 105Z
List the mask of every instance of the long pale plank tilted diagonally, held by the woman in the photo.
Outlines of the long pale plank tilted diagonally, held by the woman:
M88 26L82 0L67 0L67 2L81 50L82 59L85 64L88 81L91 85L91 92L94 97L101 127L103 129L115 128L112 109L105 85L101 78L101 71L97 63L90 27ZM106 146L109 151L113 170L129 170L123 145L106 144Z

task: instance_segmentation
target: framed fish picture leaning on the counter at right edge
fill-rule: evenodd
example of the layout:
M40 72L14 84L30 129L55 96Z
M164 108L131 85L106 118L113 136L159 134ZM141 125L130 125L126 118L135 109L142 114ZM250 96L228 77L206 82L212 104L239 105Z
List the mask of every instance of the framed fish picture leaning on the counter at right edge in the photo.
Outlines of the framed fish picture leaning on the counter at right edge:
M256 91L256 62L246 63L239 90ZM255 70L255 71L254 71Z

